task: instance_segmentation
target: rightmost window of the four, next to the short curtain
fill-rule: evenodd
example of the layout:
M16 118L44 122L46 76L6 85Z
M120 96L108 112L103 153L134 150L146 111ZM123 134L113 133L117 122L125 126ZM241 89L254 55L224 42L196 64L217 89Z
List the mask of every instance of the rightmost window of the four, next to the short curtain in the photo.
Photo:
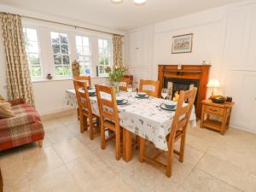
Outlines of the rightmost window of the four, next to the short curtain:
M99 66L98 76L108 76L105 72L105 68L112 63L111 44L108 39L98 39L99 46Z

